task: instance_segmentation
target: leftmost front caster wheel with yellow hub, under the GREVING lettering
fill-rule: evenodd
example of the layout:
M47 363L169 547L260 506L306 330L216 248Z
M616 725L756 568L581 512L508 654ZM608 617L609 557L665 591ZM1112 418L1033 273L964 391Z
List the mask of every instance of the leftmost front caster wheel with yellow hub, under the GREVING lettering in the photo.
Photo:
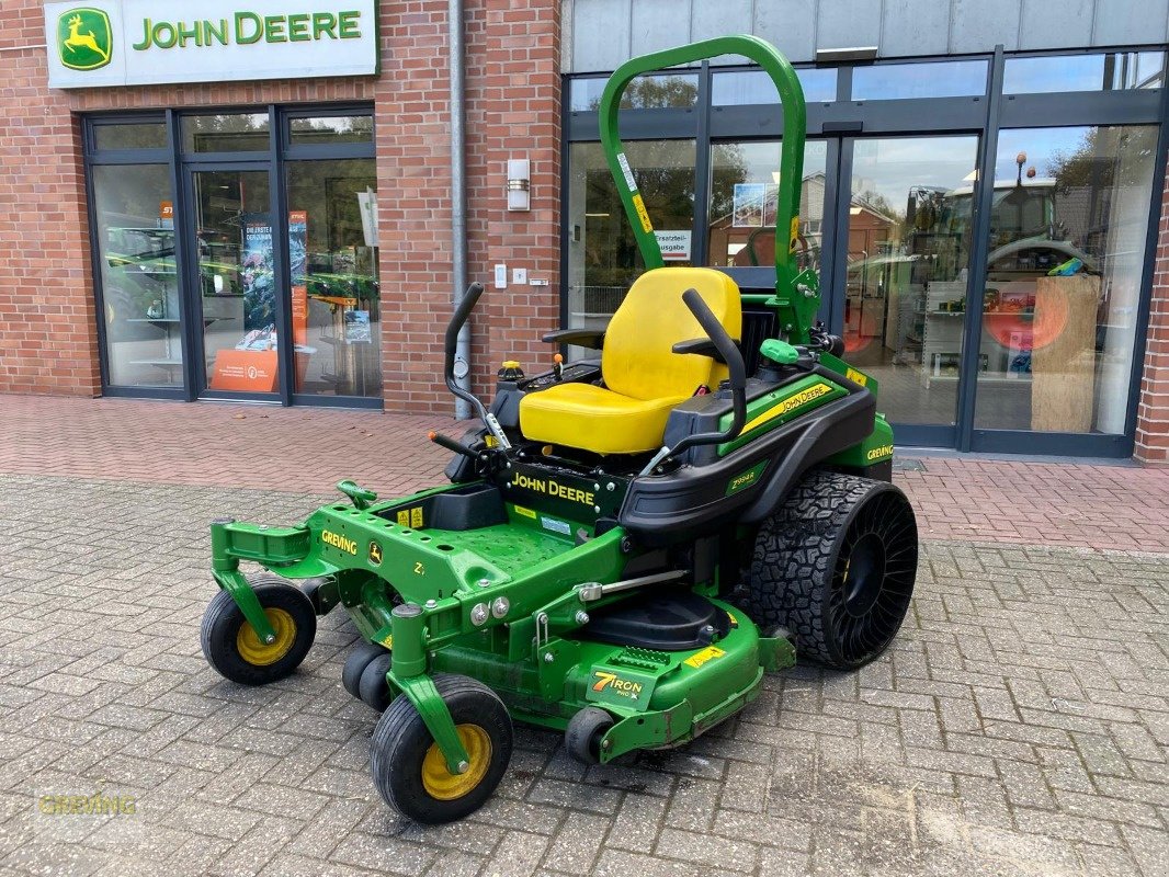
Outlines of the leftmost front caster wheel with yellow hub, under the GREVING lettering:
M260 638L226 591L207 606L199 638L207 663L220 676L241 685L267 685L304 661L317 636L317 614L299 588L275 575L257 576L251 589L276 631L272 642Z

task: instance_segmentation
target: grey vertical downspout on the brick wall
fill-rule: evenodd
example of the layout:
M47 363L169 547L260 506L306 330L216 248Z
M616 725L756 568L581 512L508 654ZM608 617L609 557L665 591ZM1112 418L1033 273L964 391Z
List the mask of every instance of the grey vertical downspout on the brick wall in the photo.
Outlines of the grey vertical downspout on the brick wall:
M448 44L450 47L450 251L455 282L455 308L466 294L466 167L464 164L464 77L463 77L463 0L448 0ZM455 380L471 388L471 326L463 325L455 346ZM471 416L463 399L455 399L456 420Z

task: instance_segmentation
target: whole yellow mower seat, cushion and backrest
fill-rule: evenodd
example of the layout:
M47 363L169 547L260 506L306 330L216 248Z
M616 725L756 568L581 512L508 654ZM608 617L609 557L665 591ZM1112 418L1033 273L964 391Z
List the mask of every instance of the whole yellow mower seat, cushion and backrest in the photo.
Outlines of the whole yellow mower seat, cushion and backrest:
M727 333L742 329L739 288L710 268L657 268L634 283L613 315L601 352L604 387L559 384L524 396L519 426L526 438L594 454L637 454L662 447L676 405L700 386L718 386L726 366L710 357L675 353L678 341L704 338L682 301L696 289Z

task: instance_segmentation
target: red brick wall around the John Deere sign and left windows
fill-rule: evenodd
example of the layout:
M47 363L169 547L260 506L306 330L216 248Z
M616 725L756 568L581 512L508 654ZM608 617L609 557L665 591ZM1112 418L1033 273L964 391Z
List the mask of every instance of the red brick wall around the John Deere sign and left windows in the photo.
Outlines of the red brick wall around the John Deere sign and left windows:
M545 288L484 301L480 389L502 352L556 324L560 157L558 0L469 0L470 274L505 261ZM373 101L387 409L450 410L442 330L451 305L445 0L382 4L378 78L58 91L47 87L41 4L0 7L0 392L101 392L77 112ZM533 163L533 209L506 214L509 156ZM493 292L493 290L492 290ZM489 294L490 295L490 294ZM491 331L487 331L487 325ZM541 351L546 345L538 345ZM551 355L551 350L545 357ZM530 357L531 358L531 357Z

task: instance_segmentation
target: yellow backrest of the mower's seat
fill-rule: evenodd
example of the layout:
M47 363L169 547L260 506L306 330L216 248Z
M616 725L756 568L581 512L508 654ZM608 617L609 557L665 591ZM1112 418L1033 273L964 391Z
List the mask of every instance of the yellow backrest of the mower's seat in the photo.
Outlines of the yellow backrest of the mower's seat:
M691 288L739 340L742 303L733 279L712 268L655 268L634 282L604 333L601 373L609 389L643 400L689 396L699 385L713 389L726 378L726 366L710 357L671 350L706 337L682 301Z

